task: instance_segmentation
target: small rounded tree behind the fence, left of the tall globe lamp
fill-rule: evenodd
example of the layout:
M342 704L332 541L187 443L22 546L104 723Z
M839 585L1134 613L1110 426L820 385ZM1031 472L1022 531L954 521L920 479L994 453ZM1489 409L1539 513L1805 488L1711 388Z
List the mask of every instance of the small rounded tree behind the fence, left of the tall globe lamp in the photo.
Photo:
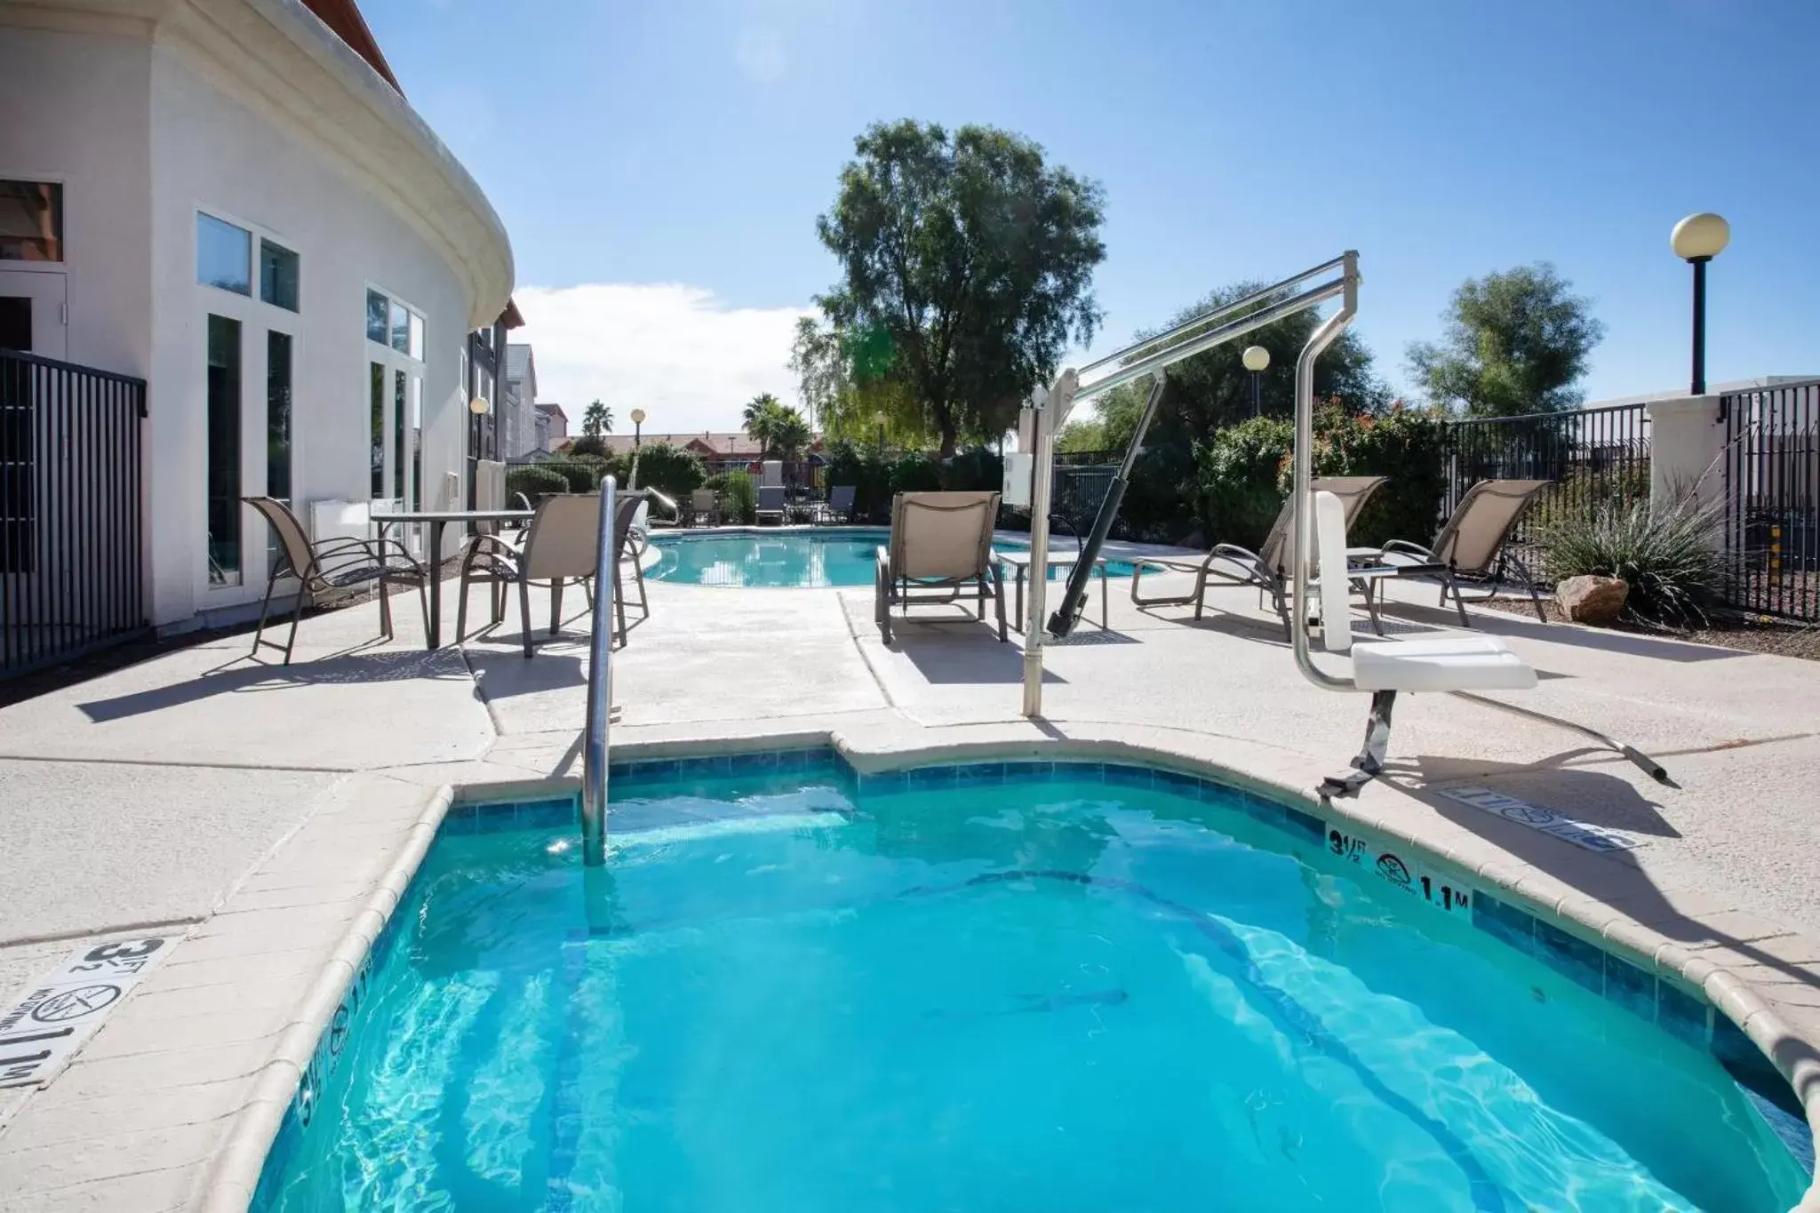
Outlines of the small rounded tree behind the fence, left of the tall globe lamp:
M1467 278L1441 313L1441 340L1410 344L1409 367L1445 409L1474 416L1576 409L1587 356L1605 336L1591 306L1547 262Z

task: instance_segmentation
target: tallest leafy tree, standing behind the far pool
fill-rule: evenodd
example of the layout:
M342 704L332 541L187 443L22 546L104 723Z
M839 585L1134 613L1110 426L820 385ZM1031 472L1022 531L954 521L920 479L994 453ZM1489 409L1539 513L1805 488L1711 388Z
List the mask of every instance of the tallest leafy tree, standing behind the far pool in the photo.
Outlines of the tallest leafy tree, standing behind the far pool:
M914 393L950 458L961 435L1010 429L1070 336L1099 327L1105 195L994 127L877 124L854 151L815 220L843 269L817 304L855 380Z

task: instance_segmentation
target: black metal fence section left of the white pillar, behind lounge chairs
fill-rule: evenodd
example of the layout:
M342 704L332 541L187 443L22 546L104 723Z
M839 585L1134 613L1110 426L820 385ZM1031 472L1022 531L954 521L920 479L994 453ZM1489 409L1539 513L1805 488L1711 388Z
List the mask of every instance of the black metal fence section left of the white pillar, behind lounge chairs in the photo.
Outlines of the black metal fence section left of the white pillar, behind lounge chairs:
M1591 516L1603 504L1649 500L1649 411L1642 404L1618 404L1452 422L1445 475L1441 520L1480 480L1554 482L1512 535L1520 549L1531 549L1523 553L1529 560L1536 536L1558 520Z

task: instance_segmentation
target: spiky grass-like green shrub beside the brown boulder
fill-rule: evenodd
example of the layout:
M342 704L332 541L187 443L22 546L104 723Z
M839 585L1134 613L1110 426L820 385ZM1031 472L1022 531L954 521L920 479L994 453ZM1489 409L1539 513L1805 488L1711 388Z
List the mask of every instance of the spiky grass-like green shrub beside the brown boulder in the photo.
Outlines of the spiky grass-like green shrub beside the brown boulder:
M1625 613L1658 622L1705 620L1724 576L1718 538L1718 511L1693 493L1662 506L1602 502L1556 516L1536 536L1549 578L1622 576L1631 586Z

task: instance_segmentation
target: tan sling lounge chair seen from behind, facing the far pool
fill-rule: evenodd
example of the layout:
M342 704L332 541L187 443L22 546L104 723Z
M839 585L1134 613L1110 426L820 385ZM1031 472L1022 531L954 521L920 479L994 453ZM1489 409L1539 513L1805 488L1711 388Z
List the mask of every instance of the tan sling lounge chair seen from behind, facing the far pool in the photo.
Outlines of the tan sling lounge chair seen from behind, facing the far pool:
M892 538L879 547L872 580L874 618L885 644L892 642L892 607L959 602L979 591L979 618L986 595L997 604L999 640L1005 640L1005 580L992 558L992 527L999 518L997 493L899 493L892 498Z

